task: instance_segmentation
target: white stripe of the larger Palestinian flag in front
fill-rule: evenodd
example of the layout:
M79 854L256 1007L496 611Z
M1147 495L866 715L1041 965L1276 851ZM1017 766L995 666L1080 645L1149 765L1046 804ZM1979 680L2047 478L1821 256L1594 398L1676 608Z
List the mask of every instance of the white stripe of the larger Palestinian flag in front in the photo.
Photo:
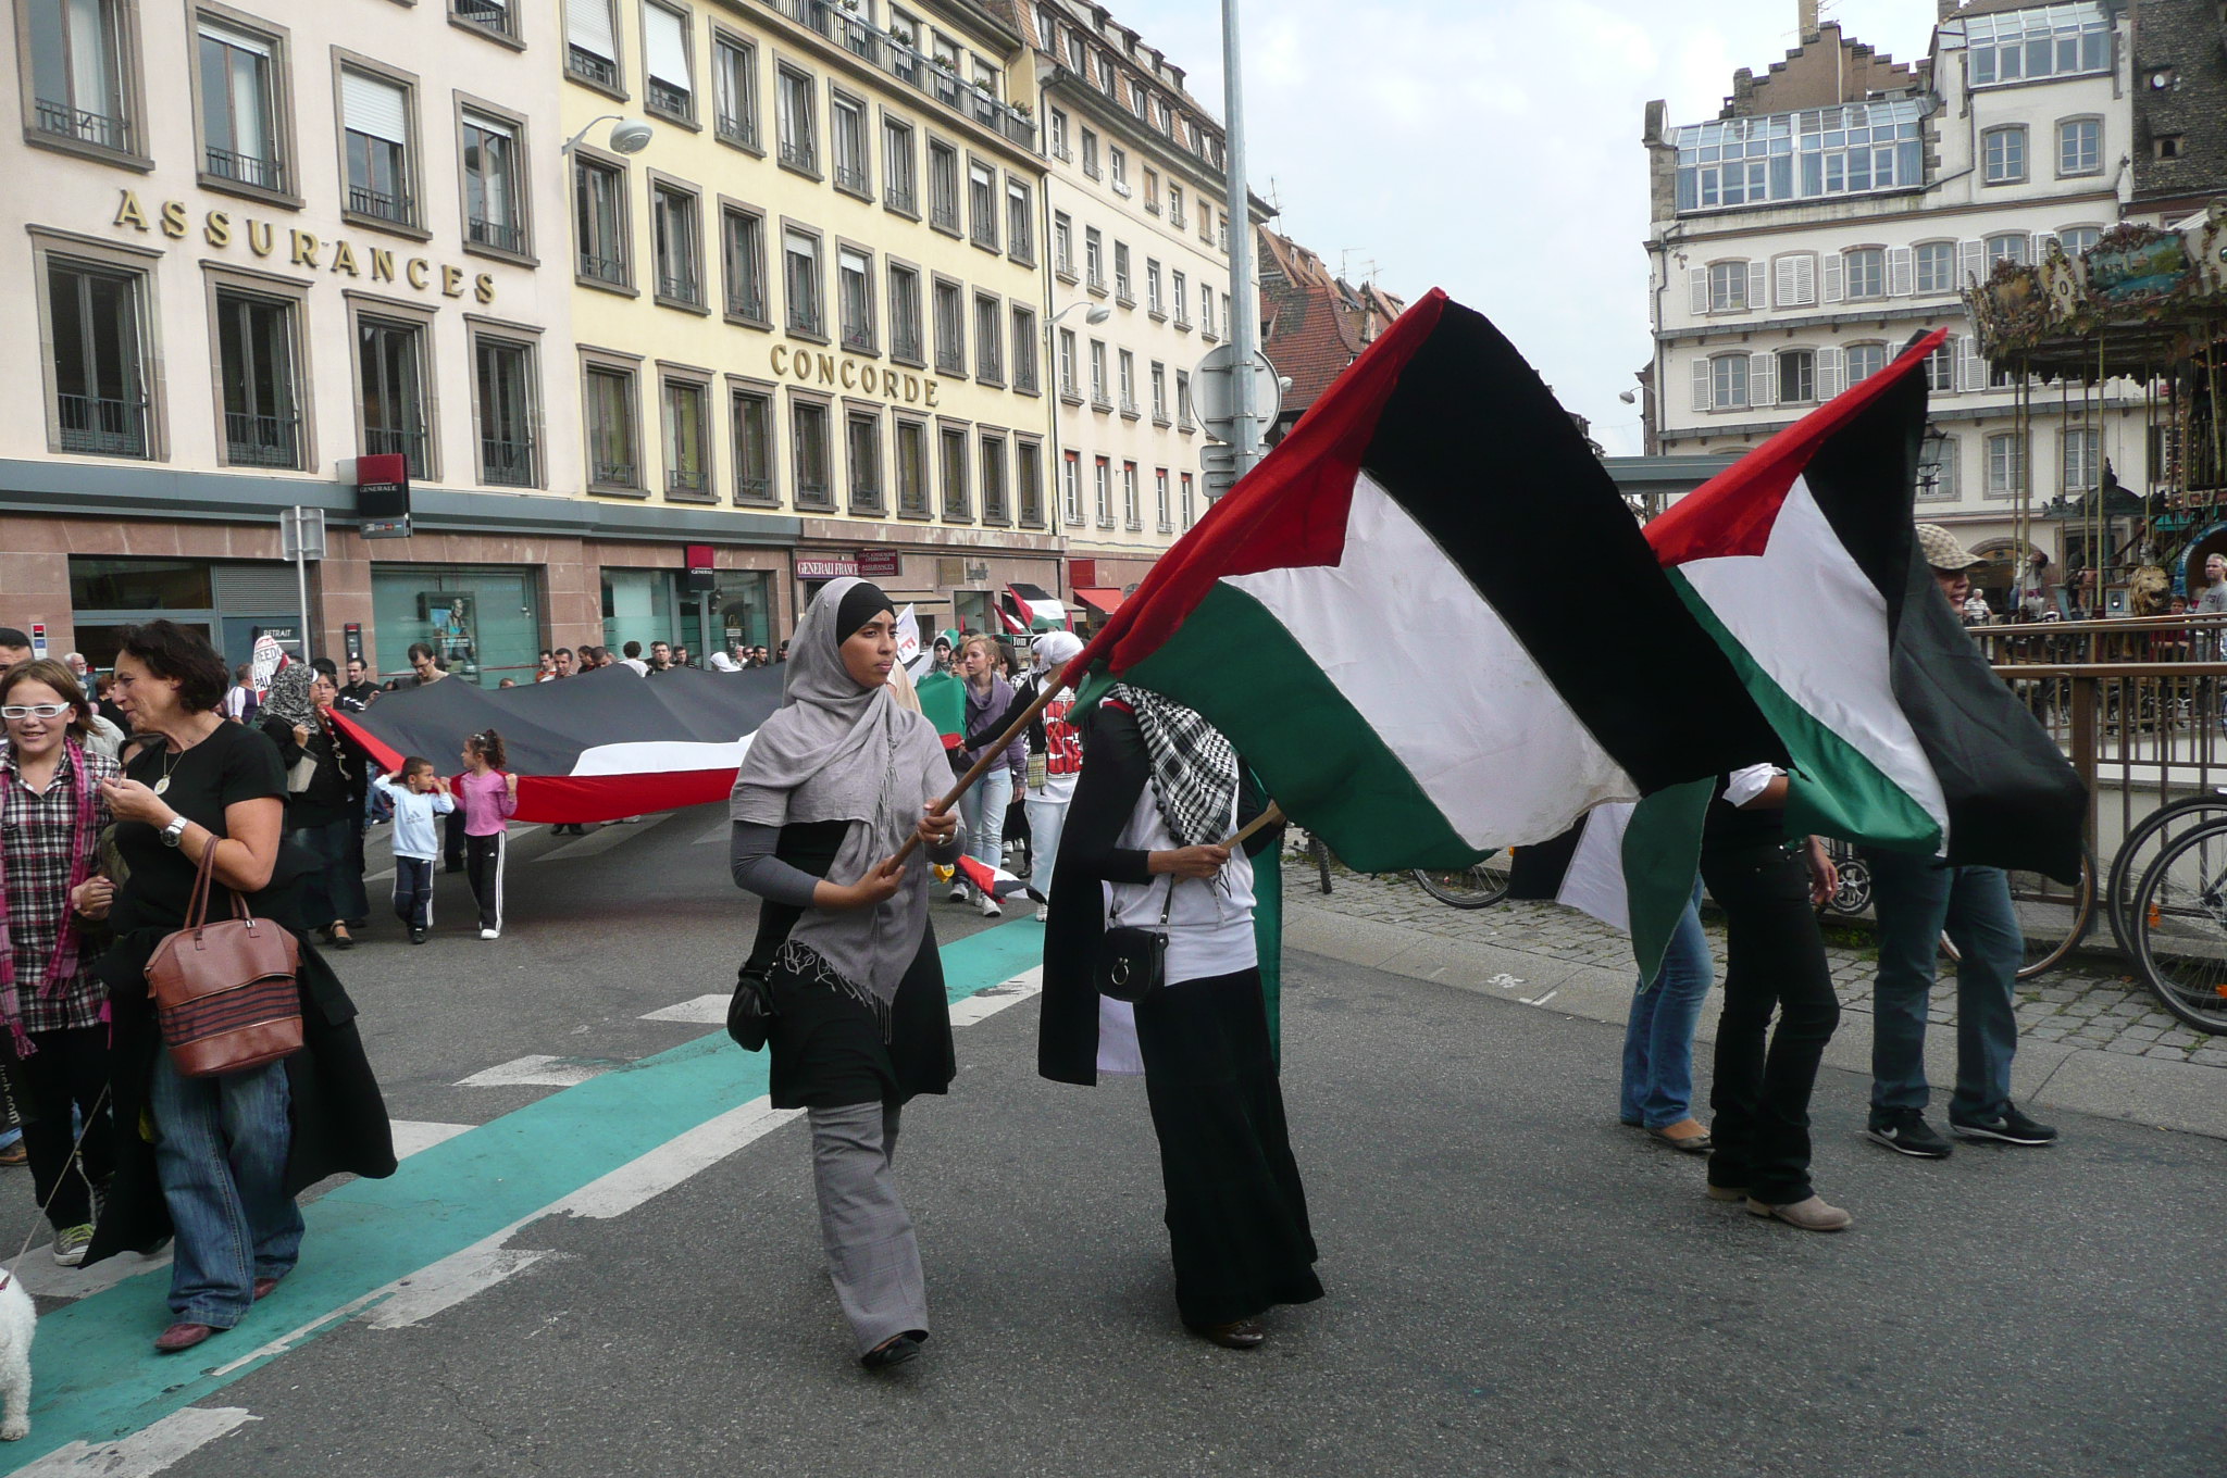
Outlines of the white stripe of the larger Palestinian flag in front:
M1639 786L1586 730L1470 579L1367 474L1338 565L1229 577L1292 632L1472 846L1570 830ZM1399 625L1436 641L1394 641ZM1383 621L1354 612L1383 610Z

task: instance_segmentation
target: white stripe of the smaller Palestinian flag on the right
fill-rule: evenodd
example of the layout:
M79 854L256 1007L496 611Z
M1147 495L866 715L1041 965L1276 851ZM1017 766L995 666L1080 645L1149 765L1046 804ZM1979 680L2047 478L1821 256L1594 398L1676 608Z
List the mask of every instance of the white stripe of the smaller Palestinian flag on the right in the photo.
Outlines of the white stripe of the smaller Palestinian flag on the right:
M1759 559L1695 559L1677 570L1770 681L1917 801L1946 841L1940 777L1891 701L1886 597L1833 532L1808 483L1795 479L1786 492Z

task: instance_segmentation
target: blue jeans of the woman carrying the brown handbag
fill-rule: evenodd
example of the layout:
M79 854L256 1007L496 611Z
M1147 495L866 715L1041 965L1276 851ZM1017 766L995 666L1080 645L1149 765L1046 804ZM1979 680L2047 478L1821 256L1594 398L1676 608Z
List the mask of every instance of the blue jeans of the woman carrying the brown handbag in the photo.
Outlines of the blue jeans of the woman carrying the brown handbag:
M256 1278L285 1278L301 1258L301 1206L285 1191L294 1142L285 1064L178 1077L156 1048L149 1106L178 1233L169 1307L180 1322L232 1329L256 1302Z

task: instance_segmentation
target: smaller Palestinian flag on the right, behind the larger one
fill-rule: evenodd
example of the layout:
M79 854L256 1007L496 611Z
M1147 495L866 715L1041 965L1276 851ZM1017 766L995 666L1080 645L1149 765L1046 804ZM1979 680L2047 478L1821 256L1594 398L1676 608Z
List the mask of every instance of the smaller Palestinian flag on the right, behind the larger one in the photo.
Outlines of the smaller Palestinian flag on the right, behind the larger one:
M1786 826L2073 881L2087 792L1942 599L1911 523L1946 329L1648 523L1793 759Z

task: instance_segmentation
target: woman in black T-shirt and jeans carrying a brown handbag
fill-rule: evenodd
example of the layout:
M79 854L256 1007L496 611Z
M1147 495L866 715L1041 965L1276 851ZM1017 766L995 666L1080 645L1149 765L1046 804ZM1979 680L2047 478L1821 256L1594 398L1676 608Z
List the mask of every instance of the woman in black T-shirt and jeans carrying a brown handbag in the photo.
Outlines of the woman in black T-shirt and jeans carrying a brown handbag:
M154 1251L176 1235L156 1349L192 1349L238 1324L301 1251L294 1195L325 1175L394 1173L385 1104L356 1039L356 1008L301 937L305 1051L225 1077L180 1077L147 999L147 957L185 924L194 875L214 850L209 913L241 895L256 917L301 935L301 857L281 844L285 772L261 732L216 712L225 663L169 621L129 628L116 657L118 703L154 739L102 786L129 877L116 893L116 944L100 962L114 1028L116 1122L154 1124L154 1144L118 1133L116 1178L87 1255Z

